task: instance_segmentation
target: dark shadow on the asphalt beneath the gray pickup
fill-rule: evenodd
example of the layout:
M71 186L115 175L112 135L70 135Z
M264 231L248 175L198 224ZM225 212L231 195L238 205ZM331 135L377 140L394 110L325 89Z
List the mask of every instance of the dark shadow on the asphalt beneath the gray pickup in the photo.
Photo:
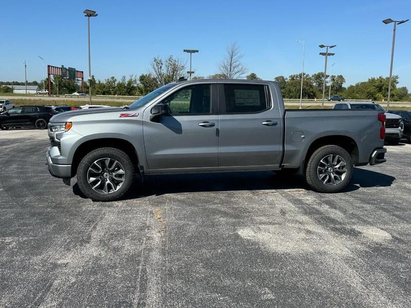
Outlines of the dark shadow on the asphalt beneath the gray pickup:
M391 186L395 177L361 168L354 168L350 184L341 192L360 188ZM305 189L311 190L303 177L281 177L271 171L218 172L209 174L146 176L143 183L137 178L129 192L121 200L149 196L176 194L179 192L210 192L236 190ZM78 184L74 194L86 198Z

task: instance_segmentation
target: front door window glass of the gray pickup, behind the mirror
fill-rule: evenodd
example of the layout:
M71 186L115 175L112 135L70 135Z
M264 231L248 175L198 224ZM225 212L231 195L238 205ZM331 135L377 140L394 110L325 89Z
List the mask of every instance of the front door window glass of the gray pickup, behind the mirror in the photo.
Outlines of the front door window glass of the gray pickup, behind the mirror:
M170 114L210 114L211 85L185 87L161 102L169 105Z

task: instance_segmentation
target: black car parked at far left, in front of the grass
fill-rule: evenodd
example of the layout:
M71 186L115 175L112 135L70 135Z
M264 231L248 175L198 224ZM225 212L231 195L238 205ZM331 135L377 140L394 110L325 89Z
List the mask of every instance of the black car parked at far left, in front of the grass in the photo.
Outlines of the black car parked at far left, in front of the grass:
M11 108L0 114L0 129L33 126L37 129L46 129L48 121L54 114L57 114L57 111L44 106Z

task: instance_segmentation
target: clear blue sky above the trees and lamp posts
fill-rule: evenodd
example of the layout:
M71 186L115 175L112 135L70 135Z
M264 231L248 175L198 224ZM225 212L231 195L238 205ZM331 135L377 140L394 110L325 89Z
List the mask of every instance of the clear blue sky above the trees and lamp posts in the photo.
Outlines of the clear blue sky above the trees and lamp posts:
M43 79L45 65L64 65L88 76L87 18L90 18L91 73L96 79L140 75L154 56L189 60L196 75L218 72L227 46L237 42L248 73L264 80L324 71L319 45L337 45L328 70L342 74L345 86L371 76L388 76L393 24L411 17L409 0L357 1L7 1L2 3L0 81ZM189 63L189 62L187 62ZM47 74L47 72L46 72ZM397 27L393 74L411 90L411 21Z

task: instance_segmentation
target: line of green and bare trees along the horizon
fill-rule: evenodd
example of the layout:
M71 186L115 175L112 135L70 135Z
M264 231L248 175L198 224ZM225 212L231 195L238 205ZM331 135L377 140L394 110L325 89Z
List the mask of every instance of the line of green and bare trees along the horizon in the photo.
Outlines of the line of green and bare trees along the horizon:
M230 44L223 56L223 59L218 64L218 72L206 76L193 76L192 79L242 79L246 75L248 68L244 64L244 55L240 52L237 43ZM117 80L114 76L105 79L97 80L91 76L90 84L92 94L102 95L145 95L154 89L163 86L167 83L175 82L180 77L187 78L186 62L173 55L162 58L156 56L150 63L150 69L147 73L137 75L122 76ZM246 75L249 80L261 80L254 72ZM288 77L276 76L274 78L282 88L283 97L285 99L299 99L301 90L301 73L292 74ZM329 89L331 80L331 90ZM393 76L391 83L391 100L393 101L411 101L410 94L406 87L397 87L399 76ZM343 75L326 76L326 94L341 95L346 99L358 100L375 100L382 101L388 97L388 77L371 77L367 81L359 82L344 87L345 78ZM4 85L24 85L24 82L0 82L0 92L12 92L11 88ZM304 73L303 78L303 99L320 99L322 98L324 84L324 73L317 72L312 75ZM42 87L42 82L36 81L28 83L28 85L39 85ZM46 88L48 80L46 79ZM53 76L51 80L52 94L66 94L78 91L80 84L72 80L63 80L61 76ZM85 90L88 92L89 84L84 83Z

